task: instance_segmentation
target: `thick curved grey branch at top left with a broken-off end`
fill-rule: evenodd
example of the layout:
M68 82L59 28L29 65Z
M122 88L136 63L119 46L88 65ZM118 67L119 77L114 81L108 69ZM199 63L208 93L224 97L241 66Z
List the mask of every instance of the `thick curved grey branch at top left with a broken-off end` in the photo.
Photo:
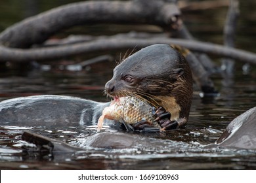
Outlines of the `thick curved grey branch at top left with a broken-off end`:
M178 28L179 8L164 0L85 1L53 8L26 18L0 34L0 44L29 48L62 29L83 24L153 24Z

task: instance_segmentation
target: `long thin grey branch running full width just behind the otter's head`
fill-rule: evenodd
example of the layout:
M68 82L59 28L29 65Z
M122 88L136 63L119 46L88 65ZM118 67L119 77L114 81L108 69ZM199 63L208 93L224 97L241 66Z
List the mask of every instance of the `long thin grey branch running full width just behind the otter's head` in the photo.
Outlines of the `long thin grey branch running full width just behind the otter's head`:
M32 61L32 60L44 60L44 59L57 59L68 56L74 56L77 54L85 54L89 52L100 52L109 50L119 50L123 48L142 48L151 44L177 44L188 48L189 50L196 52L203 52L207 54L213 54L216 56L237 59L240 61L256 64L256 54L239 50L236 48L228 48L219 44L200 42L200 41L188 41L184 39L132 39L132 38L109 38L98 39L92 42L83 42L77 44L70 44L56 47L46 48L7 48L0 46L0 61Z

